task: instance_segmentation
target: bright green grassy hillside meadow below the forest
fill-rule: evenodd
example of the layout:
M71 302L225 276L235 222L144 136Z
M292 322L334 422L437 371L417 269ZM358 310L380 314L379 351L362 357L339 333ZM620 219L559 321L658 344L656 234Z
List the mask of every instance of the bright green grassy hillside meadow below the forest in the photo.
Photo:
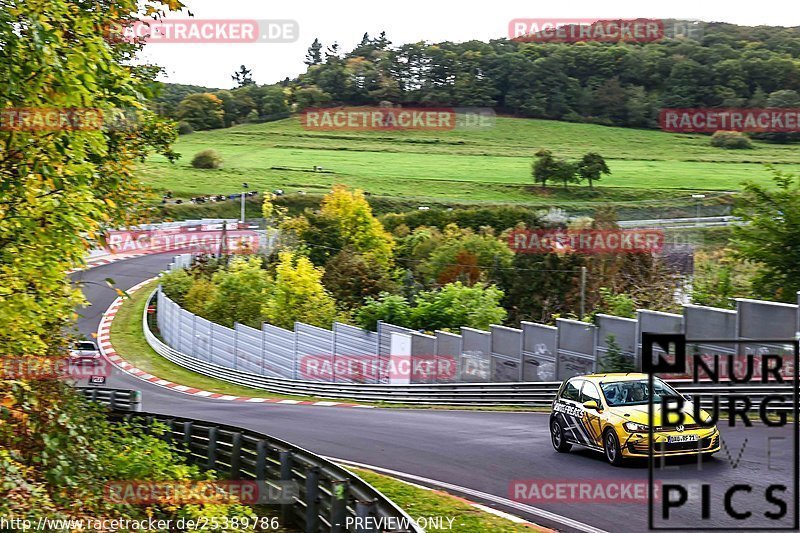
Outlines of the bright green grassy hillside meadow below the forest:
M192 156L207 148L222 154L224 169L191 167ZM585 185L542 191L530 174L540 148L567 158L599 152L612 175L595 194ZM176 150L183 154L178 163L154 157L142 177L184 197L236 192L246 181L258 190L308 193L346 183L376 196L444 202L629 203L737 190L746 179L767 182L767 163L800 171L800 150L791 145L754 142L752 150L728 151L710 146L707 135L505 117L492 128L447 132L306 131L293 117L192 133ZM313 172L315 165L330 172Z

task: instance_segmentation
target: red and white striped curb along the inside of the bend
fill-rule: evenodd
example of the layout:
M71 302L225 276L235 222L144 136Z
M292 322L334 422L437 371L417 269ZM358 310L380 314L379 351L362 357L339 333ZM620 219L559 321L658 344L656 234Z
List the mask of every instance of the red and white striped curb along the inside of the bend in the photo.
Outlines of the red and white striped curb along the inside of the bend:
M144 254L143 254L144 255ZM153 278L155 279L155 278ZM126 292L128 294L133 294L142 286L146 285L153 281L153 279L145 280L137 285L134 285ZM229 402L247 402L247 403L276 403L276 404L284 404L284 405L315 405L317 407L357 407L361 409L373 409L371 405L358 405L352 403L341 403L341 402L330 402L330 401L307 401L307 400L284 400L279 398L251 398L247 396L232 396L230 394L220 394L218 392L210 392L202 389L197 389L194 387L187 387L186 385L180 385L178 383L173 383L172 381L161 379L158 376L154 376L148 372L140 368L136 368L129 362L125 361L120 355L114 350L114 346L111 344L111 323L114 321L114 318L119 311L119 308L122 307L123 298L118 297L114 302L109 306L105 313L103 313L102 318L100 319L100 326L97 328L97 344L100 347L100 352L108 359L114 366L122 370L123 372L130 374L142 381L147 381L154 385L158 385L159 387L164 387L165 389L174 390L183 394L190 394L192 396L199 396L202 398L209 398L212 400L221 400L221 401L229 401Z

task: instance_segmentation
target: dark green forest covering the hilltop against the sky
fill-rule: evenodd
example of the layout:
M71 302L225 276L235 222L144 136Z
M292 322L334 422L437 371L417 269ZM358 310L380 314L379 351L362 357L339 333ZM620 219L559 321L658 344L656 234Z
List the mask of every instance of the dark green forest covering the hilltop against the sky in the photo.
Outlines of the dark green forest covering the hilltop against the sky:
M257 86L243 69L234 77L236 89L165 84L157 103L164 114L186 119L179 108L192 93L230 96L222 102L226 116L211 127L313 106L385 103L492 107L520 117L641 128L658 127L662 108L800 107L800 28L698 25L697 37L648 43L496 39L394 46L381 33L364 34L344 52L315 39L307 70L295 79ZM194 122L194 129L209 127Z

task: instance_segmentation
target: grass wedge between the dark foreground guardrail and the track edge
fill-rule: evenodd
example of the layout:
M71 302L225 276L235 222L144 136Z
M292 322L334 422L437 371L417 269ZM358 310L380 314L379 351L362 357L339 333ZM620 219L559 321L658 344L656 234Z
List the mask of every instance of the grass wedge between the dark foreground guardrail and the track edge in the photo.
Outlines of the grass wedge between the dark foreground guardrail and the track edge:
M506 518L495 516L479 507L465 502L441 491L428 490L405 481L376 474L370 470L347 467L364 481L385 494L399 505L411 518L443 519L443 527L448 531L472 533L474 531L492 531L494 533L517 533L549 531L523 524L516 524ZM454 519L449 529L448 518ZM420 524L424 525L424 524ZM429 527L428 531L434 528Z

